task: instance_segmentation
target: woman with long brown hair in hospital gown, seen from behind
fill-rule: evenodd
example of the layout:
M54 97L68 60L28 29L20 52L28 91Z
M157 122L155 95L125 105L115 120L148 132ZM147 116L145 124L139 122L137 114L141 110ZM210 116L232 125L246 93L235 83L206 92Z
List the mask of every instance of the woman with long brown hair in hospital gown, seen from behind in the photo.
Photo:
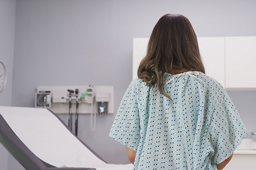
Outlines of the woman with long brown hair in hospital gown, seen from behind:
M185 16L159 19L138 77L109 134L134 169L223 169L247 131L223 86L205 75Z

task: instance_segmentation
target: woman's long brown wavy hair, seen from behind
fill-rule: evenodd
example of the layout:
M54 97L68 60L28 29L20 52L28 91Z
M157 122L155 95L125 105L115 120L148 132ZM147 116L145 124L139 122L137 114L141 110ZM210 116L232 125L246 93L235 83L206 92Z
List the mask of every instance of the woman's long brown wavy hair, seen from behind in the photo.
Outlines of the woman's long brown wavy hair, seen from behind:
M181 14L165 14L151 33L138 77L170 98L162 81L166 72L173 74L174 67L205 73L197 37L188 18Z

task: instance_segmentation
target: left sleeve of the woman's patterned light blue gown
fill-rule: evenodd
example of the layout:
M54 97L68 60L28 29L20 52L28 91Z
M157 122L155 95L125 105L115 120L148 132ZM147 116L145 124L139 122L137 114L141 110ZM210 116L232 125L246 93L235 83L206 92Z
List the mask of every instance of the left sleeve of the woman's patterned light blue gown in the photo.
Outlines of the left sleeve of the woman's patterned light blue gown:
M123 145L137 151L140 142L140 119L138 89L132 81L126 89L110 129L109 136Z

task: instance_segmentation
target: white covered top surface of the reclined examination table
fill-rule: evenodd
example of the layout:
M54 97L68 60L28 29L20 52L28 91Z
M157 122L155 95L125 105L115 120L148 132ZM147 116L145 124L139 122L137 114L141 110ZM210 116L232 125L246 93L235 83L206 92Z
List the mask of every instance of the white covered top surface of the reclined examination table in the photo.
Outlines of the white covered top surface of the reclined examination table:
M97 157L46 108L1 106L0 114L12 131L43 162L56 167L97 170L132 169L132 164L108 164Z

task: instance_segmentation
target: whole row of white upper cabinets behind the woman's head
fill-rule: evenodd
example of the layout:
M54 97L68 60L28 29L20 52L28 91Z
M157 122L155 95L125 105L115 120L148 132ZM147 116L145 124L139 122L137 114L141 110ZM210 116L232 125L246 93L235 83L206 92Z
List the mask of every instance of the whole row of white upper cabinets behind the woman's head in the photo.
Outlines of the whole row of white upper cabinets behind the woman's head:
M149 38L134 38L133 78L146 55ZM225 88L256 88L256 36L198 37L206 74Z

